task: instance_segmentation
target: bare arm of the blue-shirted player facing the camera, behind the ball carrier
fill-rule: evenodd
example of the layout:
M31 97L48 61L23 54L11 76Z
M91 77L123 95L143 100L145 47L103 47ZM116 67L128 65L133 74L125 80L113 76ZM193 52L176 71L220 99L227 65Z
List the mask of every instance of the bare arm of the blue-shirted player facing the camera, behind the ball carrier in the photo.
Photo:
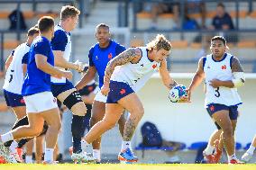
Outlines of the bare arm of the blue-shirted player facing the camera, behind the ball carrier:
M76 88L78 90L82 89L84 86L87 85L90 81L92 81L96 76L96 67L95 66L89 66L87 73L82 77L82 79L78 82L76 85Z

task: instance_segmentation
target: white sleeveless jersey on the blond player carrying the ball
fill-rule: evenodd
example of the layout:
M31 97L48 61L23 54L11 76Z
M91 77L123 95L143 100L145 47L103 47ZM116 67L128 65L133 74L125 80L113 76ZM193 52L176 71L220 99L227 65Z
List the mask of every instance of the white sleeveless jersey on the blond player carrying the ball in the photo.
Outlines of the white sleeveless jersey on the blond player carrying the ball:
M127 83L135 92L138 92L160 67L160 63L151 61L148 58L146 47L139 47L138 49L142 50L140 61L135 64L129 62L123 66L115 67L114 73L110 78L113 81Z

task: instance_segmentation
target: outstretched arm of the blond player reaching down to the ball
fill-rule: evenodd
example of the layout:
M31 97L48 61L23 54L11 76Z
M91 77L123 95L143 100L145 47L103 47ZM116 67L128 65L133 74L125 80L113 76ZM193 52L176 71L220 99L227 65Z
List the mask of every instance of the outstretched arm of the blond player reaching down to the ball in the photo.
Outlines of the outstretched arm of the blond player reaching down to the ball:
M167 69L167 62L165 59L162 60L160 64L159 72L160 72L160 77L163 82L163 85L165 85L168 89L171 89L175 85L178 85L178 83L169 76L169 71Z

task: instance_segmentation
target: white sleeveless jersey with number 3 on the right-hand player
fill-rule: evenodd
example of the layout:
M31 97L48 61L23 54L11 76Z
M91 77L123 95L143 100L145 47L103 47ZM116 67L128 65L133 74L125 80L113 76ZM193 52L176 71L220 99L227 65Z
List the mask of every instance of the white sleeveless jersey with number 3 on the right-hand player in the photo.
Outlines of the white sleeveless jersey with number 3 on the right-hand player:
M212 55L206 56L206 62L204 64L204 71L206 74L206 106L210 103L220 103L227 106L242 103L236 88L228 88L224 86L214 88L210 85L210 81L213 79L219 79L221 81L230 81L233 79L231 67L232 58L233 55L229 53L226 53L224 58L220 61L215 61Z

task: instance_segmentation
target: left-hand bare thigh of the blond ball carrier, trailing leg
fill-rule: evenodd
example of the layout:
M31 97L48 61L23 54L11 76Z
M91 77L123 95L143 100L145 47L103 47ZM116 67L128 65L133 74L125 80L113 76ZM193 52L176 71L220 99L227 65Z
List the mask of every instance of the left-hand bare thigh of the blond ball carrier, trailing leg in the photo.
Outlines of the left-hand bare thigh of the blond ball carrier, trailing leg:
M118 103L105 103L104 121L114 125L123 114L123 106Z

